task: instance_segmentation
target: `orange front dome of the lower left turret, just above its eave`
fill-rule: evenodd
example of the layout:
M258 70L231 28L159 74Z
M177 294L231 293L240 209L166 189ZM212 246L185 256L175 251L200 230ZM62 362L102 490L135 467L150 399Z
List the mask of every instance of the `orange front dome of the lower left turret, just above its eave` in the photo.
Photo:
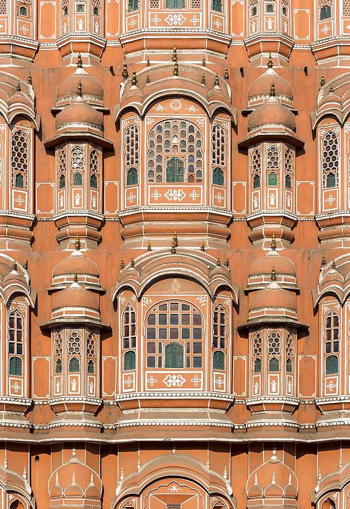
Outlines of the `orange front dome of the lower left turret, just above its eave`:
M99 311L99 296L91 290L85 290L77 283L52 295L52 309L60 307L89 307Z

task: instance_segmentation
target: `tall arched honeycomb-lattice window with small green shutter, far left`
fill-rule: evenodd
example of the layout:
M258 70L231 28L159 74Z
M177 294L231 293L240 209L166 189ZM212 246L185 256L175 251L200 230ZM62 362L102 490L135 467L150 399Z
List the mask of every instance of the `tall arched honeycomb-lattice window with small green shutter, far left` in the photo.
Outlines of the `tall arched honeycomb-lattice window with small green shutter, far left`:
M12 134L11 140L11 182L13 187L27 188L28 178L28 138L18 129Z

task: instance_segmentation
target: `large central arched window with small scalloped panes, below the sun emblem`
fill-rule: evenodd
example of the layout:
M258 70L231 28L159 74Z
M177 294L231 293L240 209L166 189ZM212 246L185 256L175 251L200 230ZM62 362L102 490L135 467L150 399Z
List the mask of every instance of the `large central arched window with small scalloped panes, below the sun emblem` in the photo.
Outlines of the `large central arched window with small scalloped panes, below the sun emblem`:
M202 182L203 164L203 136L195 124L171 119L151 129L147 152L149 183L168 182L168 178L180 179L182 174L183 180L174 181Z

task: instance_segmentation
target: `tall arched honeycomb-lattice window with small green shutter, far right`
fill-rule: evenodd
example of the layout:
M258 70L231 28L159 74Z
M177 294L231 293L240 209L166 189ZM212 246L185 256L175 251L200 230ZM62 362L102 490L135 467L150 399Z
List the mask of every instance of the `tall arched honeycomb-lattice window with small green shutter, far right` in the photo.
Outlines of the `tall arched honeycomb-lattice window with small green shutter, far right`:
M337 187L339 183L339 140L334 131L328 131L322 142L322 185L323 188Z

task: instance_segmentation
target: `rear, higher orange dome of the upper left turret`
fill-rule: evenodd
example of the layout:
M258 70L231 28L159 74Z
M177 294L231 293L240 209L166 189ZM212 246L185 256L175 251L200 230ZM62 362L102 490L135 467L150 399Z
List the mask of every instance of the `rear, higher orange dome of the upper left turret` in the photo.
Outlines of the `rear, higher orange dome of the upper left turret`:
M74 74L61 81L56 89L56 101L76 97L79 81L84 99L103 100L104 90L102 84L94 76L78 67Z

